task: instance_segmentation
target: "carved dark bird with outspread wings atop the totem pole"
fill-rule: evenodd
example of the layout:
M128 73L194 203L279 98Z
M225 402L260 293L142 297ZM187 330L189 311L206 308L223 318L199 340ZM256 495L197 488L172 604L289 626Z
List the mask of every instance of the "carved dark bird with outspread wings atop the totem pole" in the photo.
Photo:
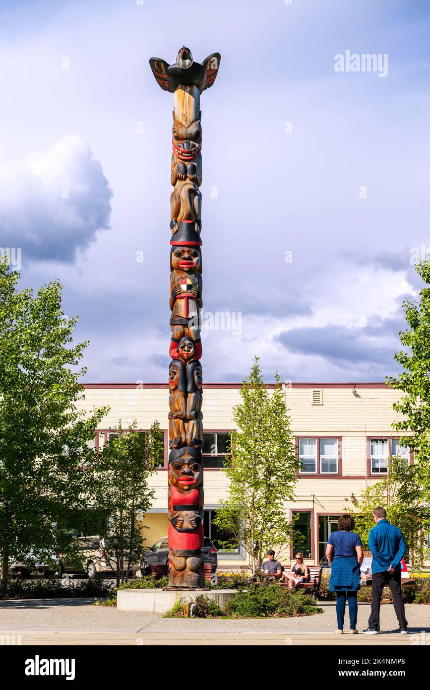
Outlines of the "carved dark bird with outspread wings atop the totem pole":
M164 91L174 93L178 86L196 86L201 92L212 86L218 74L221 55L213 52L203 63L194 62L190 48L183 46L178 52L176 63L169 65L160 57L152 57L152 74Z

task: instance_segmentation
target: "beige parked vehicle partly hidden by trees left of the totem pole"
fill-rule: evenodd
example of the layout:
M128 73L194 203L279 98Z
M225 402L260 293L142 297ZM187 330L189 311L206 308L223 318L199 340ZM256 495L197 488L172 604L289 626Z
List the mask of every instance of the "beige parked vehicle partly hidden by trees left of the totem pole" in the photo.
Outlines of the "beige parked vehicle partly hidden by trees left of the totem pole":
M87 573L89 578L96 578L102 573L114 575L116 559L107 555L108 538L79 537L76 541L82 563L67 558L59 560L58 573L60 576L63 573ZM124 570L127 568L128 560L124 560ZM138 569L139 566L132 566L130 570L135 572Z

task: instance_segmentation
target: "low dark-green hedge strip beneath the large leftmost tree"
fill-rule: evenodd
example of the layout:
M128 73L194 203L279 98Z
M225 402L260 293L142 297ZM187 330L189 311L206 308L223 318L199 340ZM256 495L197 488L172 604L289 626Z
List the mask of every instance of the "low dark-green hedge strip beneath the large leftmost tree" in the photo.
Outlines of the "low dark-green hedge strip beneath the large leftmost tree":
M10 580L7 588L0 587L0 599L50 599L102 597L109 598L114 593L114 586L101 578L94 580Z

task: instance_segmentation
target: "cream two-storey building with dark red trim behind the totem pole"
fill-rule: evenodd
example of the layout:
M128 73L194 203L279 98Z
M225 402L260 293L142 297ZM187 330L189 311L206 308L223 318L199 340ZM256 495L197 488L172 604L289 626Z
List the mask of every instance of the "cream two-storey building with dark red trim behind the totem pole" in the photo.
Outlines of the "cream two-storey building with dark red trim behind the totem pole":
M270 386L269 386L270 387ZM273 387L273 386L272 386ZM98 444L110 428L122 420L136 420L137 427L150 428L158 420L165 429L164 466L152 477L155 502L145 516L148 546L167 535L167 384L86 384L85 407L110 406L103 420ZM232 407L240 402L240 384L205 384L203 424L205 431L205 534L216 543L212 515L226 495L223 451L227 433L234 428ZM354 509L362 491L378 481L387 469L389 455L409 450L399 448L391 423L396 420L393 402L399 398L385 384L291 384L285 386L285 404L303 469L296 484L296 500L285 509L300 513L308 564L318 564L338 516ZM292 553L292 549L291 549ZM291 553L282 560L289 562ZM245 553L218 553L220 569L246 565Z

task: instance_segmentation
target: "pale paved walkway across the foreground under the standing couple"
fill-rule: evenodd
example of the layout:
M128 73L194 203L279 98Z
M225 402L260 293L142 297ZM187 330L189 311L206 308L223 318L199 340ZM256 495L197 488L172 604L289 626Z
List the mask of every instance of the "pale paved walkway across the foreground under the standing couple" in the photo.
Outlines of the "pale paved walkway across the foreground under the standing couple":
M323 613L269 620L162 618L156 613L94 607L88 599L0 602L0 635L15 635L21 644L196 644L289 645L336 644L380 646L430 642L430 607L407 604L411 635L400 635L391 604L382 604L381 635L336 635L334 602L320 602ZM359 631L367 627L369 604L358 604ZM345 627L347 631L347 627ZM21 635L21 639L17 638ZM427 637L426 637L427 635ZM3 638L1 638L3 639ZM1 641L1 640L0 640Z

